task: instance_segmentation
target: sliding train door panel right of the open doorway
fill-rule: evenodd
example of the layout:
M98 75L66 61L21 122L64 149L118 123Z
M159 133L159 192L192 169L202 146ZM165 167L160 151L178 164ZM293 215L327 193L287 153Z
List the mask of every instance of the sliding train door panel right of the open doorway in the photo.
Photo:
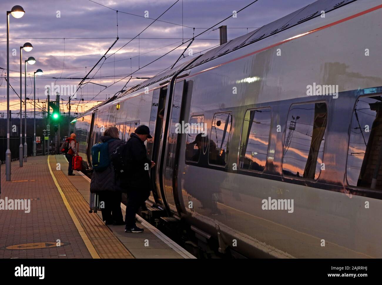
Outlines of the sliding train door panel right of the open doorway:
M165 146L163 162L161 163L166 202L170 211L178 216L180 216L181 207L178 205L179 199L177 197L176 169L178 164L176 159L179 157L178 152L181 133L179 132L178 123L181 123L180 118L183 117L182 113L184 112L182 110L182 101L185 86L186 80L180 80L175 83L172 104L168 105L170 107L170 117L166 123L168 124L167 144Z

